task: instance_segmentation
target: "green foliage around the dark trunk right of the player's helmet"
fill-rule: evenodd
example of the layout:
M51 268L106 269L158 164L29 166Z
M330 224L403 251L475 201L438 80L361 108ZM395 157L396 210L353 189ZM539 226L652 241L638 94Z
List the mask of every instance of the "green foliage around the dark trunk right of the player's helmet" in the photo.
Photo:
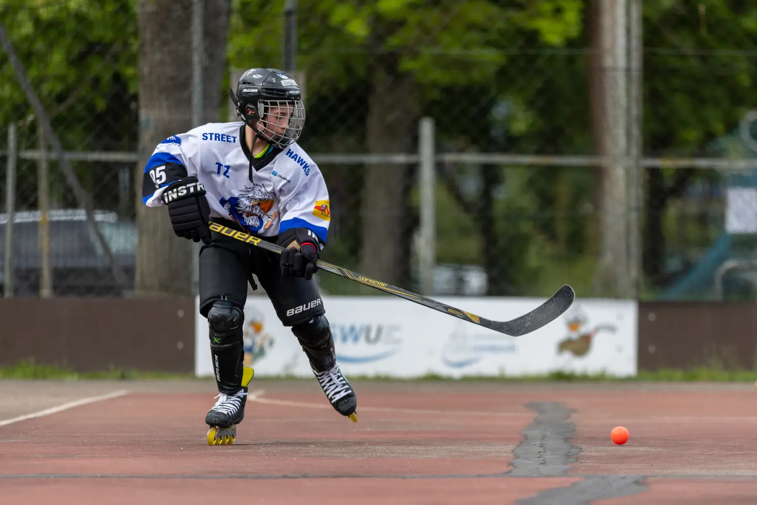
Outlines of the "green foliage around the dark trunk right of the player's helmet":
M237 0L234 5L229 41L232 66L281 66L281 2ZM399 70L413 76L419 109L435 118L437 142L444 151L499 147L503 144L492 137L497 128L490 124L488 109L498 102L506 103L510 114L503 121L522 125L532 111L518 109L516 104L528 100L524 93L534 91L533 86L522 83L512 86L514 80L503 79L506 73L503 69L512 75L522 71L517 57L516 64L510 67L506 49L523 44L565 45L581 34L583 8L584 3L578 0L509 5L486 0L298 2L298 69L307 76L310 125L302 143L313 152L365 151L370 68L375 58L395 55ZM257 43L262 39L271 43ZM387 111L387 114L412 112ZM331 167L322 168L332 185ZM481 178L478 167L471 170L470 180ZM360 170L347 175L350 179L362 177ZM350 195L349 207L353 211L360 207L357 194ZM439 251L440 260L479 263L481 235L475 229L472 233L461 231L463 223L475 225L480 220L478 206L450 202L444 190L438 196L442 204L438 207L439 238L452 244L451 250ZM517 202L514 206L522 207ZM353 223L351 232L341 234L347 240L354 237L352 243L346 247L337 245L337 249L357 250L360 244L357 226L358 223ZM444 239L449 236L447 229L458 235L455 240ZM521 238L520 232L513 235L506 230L505 236L510 235L513 240ZM484 242L487 240L484 238ZM329 248L333 247L332 242ZM528 248L528 238L524 247ZM511 264L512 271L525 273L527 269L520 267L525 257L519 255L524 250L508 251L506 262ZM330 257L329 251L325 255Z

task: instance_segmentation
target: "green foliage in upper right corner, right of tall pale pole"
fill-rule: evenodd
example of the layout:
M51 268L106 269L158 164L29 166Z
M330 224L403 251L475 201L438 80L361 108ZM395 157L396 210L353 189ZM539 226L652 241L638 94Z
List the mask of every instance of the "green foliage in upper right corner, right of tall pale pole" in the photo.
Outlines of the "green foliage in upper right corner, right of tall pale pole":
M643 4L647 152L706 154L757 104L757 5Z

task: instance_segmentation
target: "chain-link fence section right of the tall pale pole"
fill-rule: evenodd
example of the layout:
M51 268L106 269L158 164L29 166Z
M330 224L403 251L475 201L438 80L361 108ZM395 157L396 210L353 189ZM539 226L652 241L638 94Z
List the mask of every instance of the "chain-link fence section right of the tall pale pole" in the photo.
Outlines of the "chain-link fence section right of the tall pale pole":
M712 1L645 2L644 9L645 154L722 158L676 168L662 161L662 169L645 171L646 293L754 298L754 273L729 261L748 267L741 260L752 259L757 245L757 129L749 133L757 11Z

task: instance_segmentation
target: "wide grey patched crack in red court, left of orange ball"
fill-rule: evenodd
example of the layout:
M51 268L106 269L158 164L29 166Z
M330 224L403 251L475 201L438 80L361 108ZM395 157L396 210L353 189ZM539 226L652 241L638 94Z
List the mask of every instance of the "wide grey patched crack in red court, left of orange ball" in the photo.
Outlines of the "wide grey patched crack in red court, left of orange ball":
M512 477L563 477L568 476L571 463L575 463L581 447L573 445L575 424L570 417L575 410L554 401L526 404L538 415L521 432L523 440L512 450L510 462ZM519 505L584 505L593 500L628 496L646 490L640 475L596 475L575 482L565 488L540 491L523 498Z

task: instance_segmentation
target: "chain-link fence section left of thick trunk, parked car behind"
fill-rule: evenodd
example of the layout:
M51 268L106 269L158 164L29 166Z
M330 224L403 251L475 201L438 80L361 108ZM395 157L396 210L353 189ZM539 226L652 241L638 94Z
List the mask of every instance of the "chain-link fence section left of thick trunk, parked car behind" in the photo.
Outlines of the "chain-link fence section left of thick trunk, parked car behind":
M0 2L0 21L0 130L7 139L0 284L7 295L120 294L132 287L136 264L135 5ZM69 153L63 164L56 145Z

